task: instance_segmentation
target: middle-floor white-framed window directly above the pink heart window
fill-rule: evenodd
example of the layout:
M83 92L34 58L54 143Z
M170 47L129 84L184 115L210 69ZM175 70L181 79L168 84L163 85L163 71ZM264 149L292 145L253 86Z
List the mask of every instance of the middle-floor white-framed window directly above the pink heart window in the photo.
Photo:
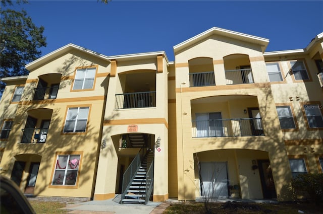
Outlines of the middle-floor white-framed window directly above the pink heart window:
M89 107L69 108L63 132L84 132L88 113Z

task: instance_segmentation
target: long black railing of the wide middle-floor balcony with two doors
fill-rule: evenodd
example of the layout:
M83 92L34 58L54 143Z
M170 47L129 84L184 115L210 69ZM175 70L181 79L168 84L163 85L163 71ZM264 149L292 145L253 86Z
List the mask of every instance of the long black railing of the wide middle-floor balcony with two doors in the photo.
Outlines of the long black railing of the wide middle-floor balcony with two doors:
M264 135L261 118L193 120L193 137Z

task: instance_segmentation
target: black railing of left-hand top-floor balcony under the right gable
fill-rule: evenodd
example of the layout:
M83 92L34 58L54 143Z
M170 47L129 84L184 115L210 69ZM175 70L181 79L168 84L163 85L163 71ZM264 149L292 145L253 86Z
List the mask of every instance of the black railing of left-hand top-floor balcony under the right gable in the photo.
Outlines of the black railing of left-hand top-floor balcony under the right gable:
M190 73L190 87L215 86L214 72Z

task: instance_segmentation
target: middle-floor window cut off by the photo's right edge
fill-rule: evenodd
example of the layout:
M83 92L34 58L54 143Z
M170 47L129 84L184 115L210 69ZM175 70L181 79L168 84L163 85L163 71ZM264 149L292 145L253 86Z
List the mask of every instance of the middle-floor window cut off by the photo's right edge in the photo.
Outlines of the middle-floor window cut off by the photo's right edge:
M322 106L318 104L304 105L305 115L310 128L322 128L323 117L321 114Z

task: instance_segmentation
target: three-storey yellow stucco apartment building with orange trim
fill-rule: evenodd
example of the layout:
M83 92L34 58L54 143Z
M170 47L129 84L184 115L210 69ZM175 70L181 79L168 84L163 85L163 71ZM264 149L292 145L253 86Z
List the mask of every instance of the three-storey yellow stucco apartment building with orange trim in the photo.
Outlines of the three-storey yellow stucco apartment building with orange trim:
M214 27L175 61L68 44L2 79L1 173L39 196L290 200L323 168L322 37L265 52Z

